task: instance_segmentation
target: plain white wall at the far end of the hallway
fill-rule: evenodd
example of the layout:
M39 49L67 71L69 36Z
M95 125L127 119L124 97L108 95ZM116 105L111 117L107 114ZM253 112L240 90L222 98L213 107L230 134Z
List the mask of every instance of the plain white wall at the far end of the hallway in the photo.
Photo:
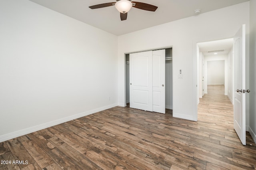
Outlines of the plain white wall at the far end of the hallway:
M225 60L207 62L207 85L225 85Z

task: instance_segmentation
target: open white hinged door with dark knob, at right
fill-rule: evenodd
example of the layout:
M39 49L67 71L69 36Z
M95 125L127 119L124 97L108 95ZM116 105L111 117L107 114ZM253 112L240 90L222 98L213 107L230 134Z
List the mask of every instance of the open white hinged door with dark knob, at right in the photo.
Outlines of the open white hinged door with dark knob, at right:
M234 36L234 129L246 145L245 128L245 25Z

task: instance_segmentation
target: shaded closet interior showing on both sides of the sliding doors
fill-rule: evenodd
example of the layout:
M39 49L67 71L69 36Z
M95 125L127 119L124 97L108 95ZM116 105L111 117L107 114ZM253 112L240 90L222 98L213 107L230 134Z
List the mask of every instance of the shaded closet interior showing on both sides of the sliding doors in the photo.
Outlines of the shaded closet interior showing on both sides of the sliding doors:
M172 109L172 47L165 49L165 108ZM159 50L159 49L156 49ZM151 50L150 50L151 51ZM130 53L125 54L126 105L130 104Z

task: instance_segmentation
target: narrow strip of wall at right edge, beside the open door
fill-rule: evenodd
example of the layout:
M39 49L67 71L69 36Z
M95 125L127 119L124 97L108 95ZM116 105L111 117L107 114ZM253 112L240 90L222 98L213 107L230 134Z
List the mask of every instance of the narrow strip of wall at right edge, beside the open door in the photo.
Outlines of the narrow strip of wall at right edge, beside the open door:
M249 132L256 143L256 0L250 0L250 122Z

